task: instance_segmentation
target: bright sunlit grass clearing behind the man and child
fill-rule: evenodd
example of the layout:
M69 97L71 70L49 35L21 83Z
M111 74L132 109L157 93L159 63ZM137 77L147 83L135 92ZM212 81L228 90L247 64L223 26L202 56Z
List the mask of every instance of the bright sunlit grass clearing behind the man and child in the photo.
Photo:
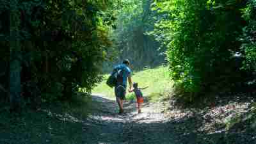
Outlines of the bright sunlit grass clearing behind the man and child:
M104 75L104 81L93 89L93 93L100 93L110 98L115 98L113 88L109 88L106 84L108 76L108 74ZM149 88L142 90L142 92L145 97L154 102L172 91L172 81L169 77L168 67L145 68L140 72L134 72L132 73L132 81L138 83L139 87L149 86ZM126 99L134 99L134 93L127 93Z

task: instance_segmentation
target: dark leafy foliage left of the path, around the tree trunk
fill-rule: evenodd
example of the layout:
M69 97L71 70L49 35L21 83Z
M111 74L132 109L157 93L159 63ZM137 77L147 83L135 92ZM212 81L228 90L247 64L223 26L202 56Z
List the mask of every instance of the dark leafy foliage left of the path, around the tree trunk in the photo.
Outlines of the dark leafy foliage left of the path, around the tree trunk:
M10 1L1 1L1 47L8 48L8 13ZM101 80L102 61L106 60L109 31L114 25L113 6L116 1L19 1L22 54L22 95L38 88L44 100L70 98L83 87L90 93ZM3 17L2 17L3 16ZM7 15L8 16L8 15ZM2 52L5 51L5 52ZM1 49L8 63L10 49ZM5 74L6 76L7 74ZM27 83L33 84L28 86Z

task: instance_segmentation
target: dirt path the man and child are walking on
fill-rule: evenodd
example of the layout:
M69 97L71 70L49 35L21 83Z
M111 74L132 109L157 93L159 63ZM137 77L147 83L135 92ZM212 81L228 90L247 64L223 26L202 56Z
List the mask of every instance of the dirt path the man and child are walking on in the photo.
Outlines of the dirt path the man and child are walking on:
M88 144L175 144L171 125L159 104L145 102L138 114L135 102L125 102L125 114L117 115L115 100L93 96L95 111L84 120Z

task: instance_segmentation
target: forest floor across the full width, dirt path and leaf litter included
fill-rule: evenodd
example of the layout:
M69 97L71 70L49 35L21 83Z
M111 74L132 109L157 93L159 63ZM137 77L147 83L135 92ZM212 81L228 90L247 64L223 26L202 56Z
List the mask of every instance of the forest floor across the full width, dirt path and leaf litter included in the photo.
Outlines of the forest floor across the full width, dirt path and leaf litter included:
M19 118L0 113L0 143L256 143L256 116L250 115L255 98L237 94L238 101L230 99L234 96L221 97L214 106L196 109L181 108L172 99L150 102L145 97L143 113L138 114L134 100L126 100L125 114L118 115L113 98L93 95L86 117L49 108L28 110Z

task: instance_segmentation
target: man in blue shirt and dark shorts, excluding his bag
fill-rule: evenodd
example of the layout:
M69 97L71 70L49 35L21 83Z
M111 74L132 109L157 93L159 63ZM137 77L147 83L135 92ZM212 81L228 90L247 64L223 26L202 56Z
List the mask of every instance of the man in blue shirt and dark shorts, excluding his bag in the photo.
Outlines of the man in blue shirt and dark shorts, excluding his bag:
M127 79L129 82L129 90L132 90L131 69L129 68L130 61L124 60L122 64L114 67L117 72L117 84L115 86L116 102L119 107L119 114L124 113L123 103L127 88Z

